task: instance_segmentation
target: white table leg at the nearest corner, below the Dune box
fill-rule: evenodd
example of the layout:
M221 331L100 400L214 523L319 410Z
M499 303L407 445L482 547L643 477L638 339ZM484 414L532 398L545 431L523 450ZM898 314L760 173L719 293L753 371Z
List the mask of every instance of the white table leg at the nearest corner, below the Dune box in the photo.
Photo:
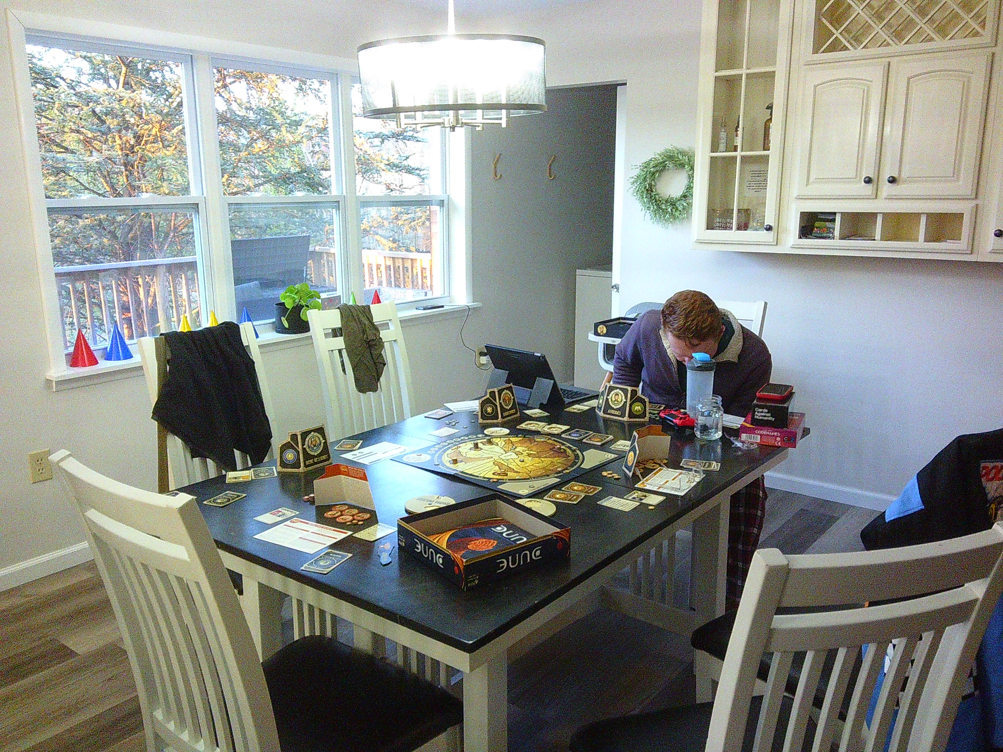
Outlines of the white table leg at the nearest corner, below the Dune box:
M499 653L463 677L463 749L509 748L509 658Z

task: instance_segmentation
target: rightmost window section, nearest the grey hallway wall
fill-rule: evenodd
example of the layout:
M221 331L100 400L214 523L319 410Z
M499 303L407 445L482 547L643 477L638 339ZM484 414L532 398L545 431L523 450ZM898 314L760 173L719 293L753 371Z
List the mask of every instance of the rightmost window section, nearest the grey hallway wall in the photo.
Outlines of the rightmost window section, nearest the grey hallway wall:
M371 290L398 302L447 295L441 130L362 117L358 83L352 110L367 300Z

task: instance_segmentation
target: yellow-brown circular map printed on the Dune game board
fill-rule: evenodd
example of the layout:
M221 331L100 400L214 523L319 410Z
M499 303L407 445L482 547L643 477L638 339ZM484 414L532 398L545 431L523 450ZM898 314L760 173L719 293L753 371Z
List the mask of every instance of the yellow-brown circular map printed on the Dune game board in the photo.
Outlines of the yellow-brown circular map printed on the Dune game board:
M466 436L435 452L435 462L481 480L532 480L571 472L582 453L550 436Z

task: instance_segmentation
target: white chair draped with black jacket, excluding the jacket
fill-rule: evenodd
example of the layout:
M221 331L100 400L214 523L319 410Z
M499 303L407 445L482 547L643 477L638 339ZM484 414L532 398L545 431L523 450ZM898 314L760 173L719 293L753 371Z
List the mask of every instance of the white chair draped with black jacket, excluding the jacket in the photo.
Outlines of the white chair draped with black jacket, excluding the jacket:
M272 409L272 392L268 387L268 378L265 375L265 368L262 365L261 349L258 347L258 339L255 336L254 324L250 322L241 324L241 339L254 361L255 371L258 375L258 386L261 388L262 401L265 403L265 412L271 417L275 413ZM156 404L156 398L160 393L160 384L166 377L168 353L163 339L160 337L140 337L136 340L136 347L139 350L139 358L142 360L142 373L146 378L146 390L149 392L149 405ZM180 488L200 480L221 475L224 470L216 466L216 463L205 457L193 457L191 450L177 436L168 433L157 424L157 490L161 493L173 488ZM268 458L275 456L276 439L272 437L272 451ZM237 466L250 467L251 460L243 452L235 452Z

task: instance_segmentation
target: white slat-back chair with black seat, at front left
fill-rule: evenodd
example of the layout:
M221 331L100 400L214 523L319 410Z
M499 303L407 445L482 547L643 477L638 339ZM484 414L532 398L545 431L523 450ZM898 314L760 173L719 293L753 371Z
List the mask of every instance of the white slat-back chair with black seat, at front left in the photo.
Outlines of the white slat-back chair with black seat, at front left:
M67 451L50 459L83 515L149 752L456 748L458 700L332 638L298 640L259 663L194 497L132 488Z

